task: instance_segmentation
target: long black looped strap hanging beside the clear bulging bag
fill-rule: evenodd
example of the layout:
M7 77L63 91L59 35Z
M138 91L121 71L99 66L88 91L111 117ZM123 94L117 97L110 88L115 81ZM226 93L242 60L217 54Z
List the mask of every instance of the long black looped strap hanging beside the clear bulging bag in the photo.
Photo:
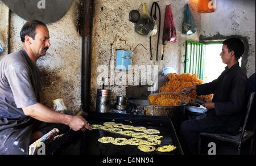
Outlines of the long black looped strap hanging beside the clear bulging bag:
M153 9L154 9L154 15L153 15L154 20L157 20L156 8L158 8L158 14L159 14L159 28L158 28L159 32L158 32L158 41L157 41L157 45L156 45L156 61L158 61L158 47L159 47L160 27L161 27L161 12L160 12L160 7L158 5L158 2L154 2L152 4L152 7L151 7L150 16L152 16L152 12L153 12ZM152 59L153 59L153 56L152 56L152 44L151 44L151 37L150 37L150 60L152 60Z

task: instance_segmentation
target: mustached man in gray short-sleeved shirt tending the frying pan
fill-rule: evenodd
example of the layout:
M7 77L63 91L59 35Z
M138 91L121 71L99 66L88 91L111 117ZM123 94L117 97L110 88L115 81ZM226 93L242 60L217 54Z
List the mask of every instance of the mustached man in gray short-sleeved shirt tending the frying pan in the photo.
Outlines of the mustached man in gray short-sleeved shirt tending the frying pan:
M28 146L48 131L36 131L36 122L67 125L65 128L91 130L81 116L57 113L40 104L42 82L36 61L51 46L46 25L28 21L20 31L22 50L0 62L0 154L28 154ZM34 138L34 140L32 140Z

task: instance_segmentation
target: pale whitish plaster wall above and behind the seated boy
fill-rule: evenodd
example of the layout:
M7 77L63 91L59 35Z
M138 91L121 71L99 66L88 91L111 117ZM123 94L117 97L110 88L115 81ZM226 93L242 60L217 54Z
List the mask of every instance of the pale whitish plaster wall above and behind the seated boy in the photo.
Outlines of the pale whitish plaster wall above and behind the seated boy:
M216 11L201 14L200 39L227 39L241 37L246 54L242 57L242 68L247 76L255 72L255 1L218 0ZM221 52L221 50L220 50Z

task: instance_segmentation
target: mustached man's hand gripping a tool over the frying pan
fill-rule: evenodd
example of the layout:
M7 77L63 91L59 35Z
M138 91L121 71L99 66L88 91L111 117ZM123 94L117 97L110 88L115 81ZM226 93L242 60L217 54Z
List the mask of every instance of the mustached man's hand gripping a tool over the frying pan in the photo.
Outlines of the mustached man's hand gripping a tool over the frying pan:
M78 131L78 130L85 131L86 129L92 130L92 127L81 116L72 116L68 126L71 127L71 129L74 131Z

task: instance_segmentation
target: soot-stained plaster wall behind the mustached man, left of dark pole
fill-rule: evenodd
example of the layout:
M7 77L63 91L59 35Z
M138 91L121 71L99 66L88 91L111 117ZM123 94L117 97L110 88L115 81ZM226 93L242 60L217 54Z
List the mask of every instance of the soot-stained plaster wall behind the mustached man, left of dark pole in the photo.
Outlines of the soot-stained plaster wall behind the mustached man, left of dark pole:
M37 65L43 78L42 103L52 108L52 100L63 98L68 113L81 110L81 37L77 31L77 8L80 1L73 1L68 12L55 23L47 24L51 46ZM7 43L9 8L0 1L0 27ZM22 48L19 32L26 23L14 12L10 15L10 51ZM6 36L7 35L7 36ZM1 54L1 58L7 52Z

